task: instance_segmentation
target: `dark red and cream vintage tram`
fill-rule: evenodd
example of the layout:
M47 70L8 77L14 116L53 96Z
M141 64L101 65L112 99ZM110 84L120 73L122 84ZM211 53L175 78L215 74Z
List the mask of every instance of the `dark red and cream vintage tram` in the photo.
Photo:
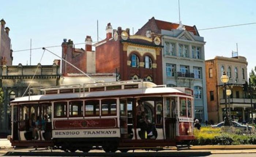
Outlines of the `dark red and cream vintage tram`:
M138 80L41 91L11 102L12 146L125 152L194 139L190 88Z

